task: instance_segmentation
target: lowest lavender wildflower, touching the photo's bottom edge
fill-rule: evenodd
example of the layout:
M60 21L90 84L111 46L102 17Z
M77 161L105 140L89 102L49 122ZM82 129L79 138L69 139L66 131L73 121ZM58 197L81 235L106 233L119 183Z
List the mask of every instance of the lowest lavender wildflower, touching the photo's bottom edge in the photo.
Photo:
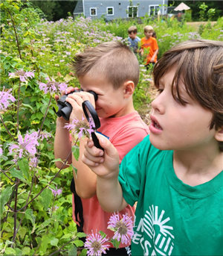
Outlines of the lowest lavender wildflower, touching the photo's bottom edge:
M100 256L102 253L106 254L106 250L109 250L109 245L104 245L103 243L108 241L108 238L103 237L99 233L94 235L92 231L92 234L88 234L84 245L85 249L88 249L87 255Z

